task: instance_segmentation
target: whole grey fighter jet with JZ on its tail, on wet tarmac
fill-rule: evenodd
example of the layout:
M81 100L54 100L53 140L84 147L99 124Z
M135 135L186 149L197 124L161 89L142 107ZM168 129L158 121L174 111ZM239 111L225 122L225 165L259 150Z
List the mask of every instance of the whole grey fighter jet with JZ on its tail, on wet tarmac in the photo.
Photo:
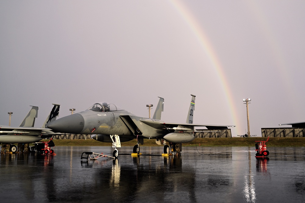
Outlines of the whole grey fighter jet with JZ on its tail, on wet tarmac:
M186 123L172 123L161 121L163 111L163 98L160 97L153 118L143 118L131 114L113 103L98 102L87 110L59 118L50 122L47 127L54 132L65 132L71 134L95 134L92 138L101 142L112 142L114 148L113 157L118 157L117 147L120 142L137 139L133 152L139 153L139 144L144 139L156 139L157 144L164 145L164 153L170 153L170 147L179 143L190 142L195 139L194 127L205 126L207 129L228 129L233 125L205 125L193 124L195 110L195 95L188 109ZM180 145L181 146L181 145Z

